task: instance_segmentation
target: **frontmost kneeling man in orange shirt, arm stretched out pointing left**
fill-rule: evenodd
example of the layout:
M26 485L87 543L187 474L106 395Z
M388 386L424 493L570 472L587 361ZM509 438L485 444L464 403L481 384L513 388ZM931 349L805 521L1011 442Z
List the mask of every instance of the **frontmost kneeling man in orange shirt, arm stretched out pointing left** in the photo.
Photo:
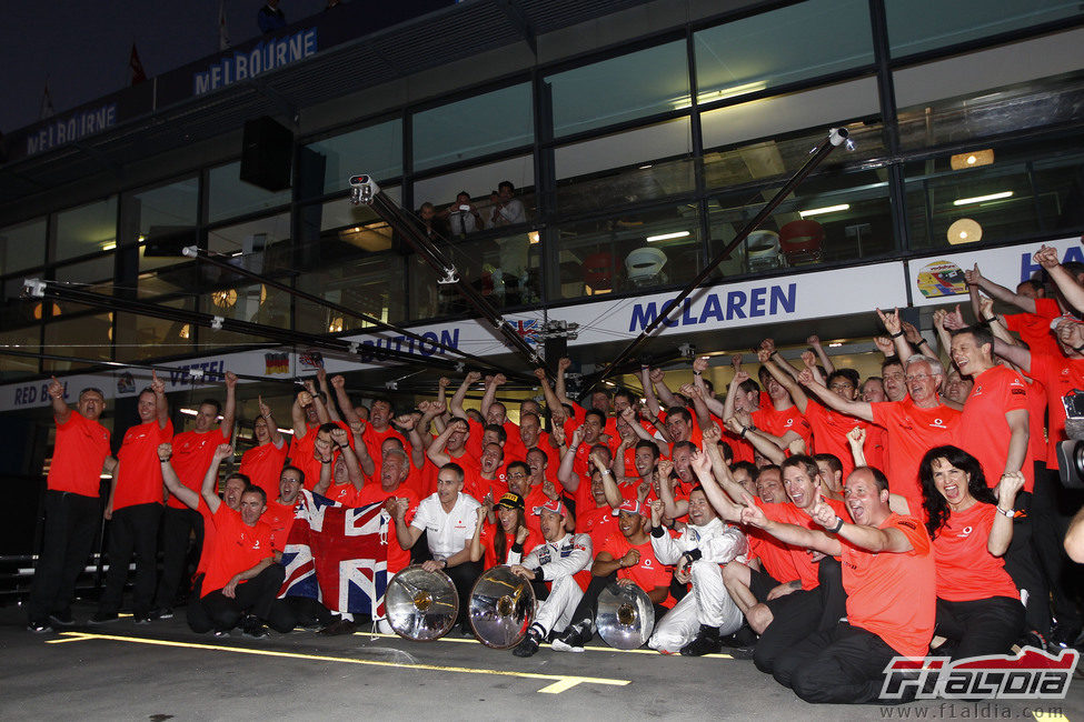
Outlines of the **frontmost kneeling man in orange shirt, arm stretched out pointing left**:
M925 527L888 508L888 479L871 467L847 478L846 498L853 523L823 500L814 507L813 520L825 531L772 521L747 494L742 512L743 522L780 541L841 558L846 621L810 630L773 669L806 702L876 701L889 661L925 656L934 633L936 572Z

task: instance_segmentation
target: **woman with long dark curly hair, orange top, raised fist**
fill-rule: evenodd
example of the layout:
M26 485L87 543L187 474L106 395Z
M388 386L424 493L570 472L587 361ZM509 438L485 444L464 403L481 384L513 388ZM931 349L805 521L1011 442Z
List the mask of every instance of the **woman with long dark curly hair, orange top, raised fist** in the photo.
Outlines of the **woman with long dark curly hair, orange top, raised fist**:
M938 653L1007 653L1024 632L1024 605L1001 556L1013 540L1013 502L1024 475L1004 474L992 490L975 457L935 447L918 479L937 565L936 634L948 640Z

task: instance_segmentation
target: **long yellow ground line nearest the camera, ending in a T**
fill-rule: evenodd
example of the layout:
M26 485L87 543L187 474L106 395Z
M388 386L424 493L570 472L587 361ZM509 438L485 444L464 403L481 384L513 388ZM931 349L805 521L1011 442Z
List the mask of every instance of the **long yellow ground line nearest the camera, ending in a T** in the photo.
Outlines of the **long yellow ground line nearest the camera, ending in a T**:
M456 672L459 674L493 674L495 676L518 676L528 680L545 680L550 684L538 690L547 694L559 694L577 684L609 684L625 686L630 680L611 680L600 676L577 676L575 674L539 674L537 672L520 672L511 670L486 670L473 666L447 666L444 664L408 664L406 662L385 662L381 660L355 660L326 654L301 654L300 652L280 652L276 650L253 650L243 646L222 646L219 644L198 644L196 642L172 642L141 636L120 636L117 634L92 634L89 632L62 632L64 636L79 638L78 641L108 640L112 642L131 642L135 644L150 644L152 646L178 646L193 650L211 650L216 652L232 652L233 654L251 654L256 656L279 656L295 660L312 660L317 662L341 662L344 664L361 664L366 666L389 666L405 670L426 670L431 672ZM77 641L77 640L72 640Z

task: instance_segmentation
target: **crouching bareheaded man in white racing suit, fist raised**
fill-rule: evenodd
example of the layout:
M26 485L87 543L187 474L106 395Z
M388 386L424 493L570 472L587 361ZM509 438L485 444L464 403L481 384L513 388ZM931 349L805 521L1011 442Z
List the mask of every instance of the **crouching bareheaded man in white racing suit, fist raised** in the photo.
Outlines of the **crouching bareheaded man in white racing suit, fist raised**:
M742 611L723 584L719 564L745 554L745 535L723 523L702 487L689 492L689 521L682 535L670 537L662 525L663 502L652 503L652 549L664 564L676 564L678 581L693 582L693 591L655 625L647 645L664 654L689 656L723 649L722 635L742 626Z

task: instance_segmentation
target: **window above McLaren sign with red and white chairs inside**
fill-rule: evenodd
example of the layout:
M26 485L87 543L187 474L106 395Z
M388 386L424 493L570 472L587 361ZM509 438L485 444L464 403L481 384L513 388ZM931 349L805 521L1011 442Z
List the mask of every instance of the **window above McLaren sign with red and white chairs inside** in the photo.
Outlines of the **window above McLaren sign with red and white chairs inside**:
M779 187L746 187L708 202L712 258L719 254ZM887 171L822 172L806 179L715 274L743 275L822 262L883 255L895 250Z

